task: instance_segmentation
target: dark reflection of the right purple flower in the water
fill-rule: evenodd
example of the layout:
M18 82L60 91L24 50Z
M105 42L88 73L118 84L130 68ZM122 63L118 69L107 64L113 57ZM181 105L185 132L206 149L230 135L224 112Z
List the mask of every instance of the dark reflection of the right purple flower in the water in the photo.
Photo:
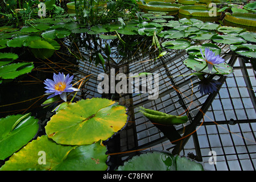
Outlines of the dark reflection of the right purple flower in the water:
M211 79L204 79L199 82L199 92L203 94L209 94L217 91L217 85L220 85L221 82Z

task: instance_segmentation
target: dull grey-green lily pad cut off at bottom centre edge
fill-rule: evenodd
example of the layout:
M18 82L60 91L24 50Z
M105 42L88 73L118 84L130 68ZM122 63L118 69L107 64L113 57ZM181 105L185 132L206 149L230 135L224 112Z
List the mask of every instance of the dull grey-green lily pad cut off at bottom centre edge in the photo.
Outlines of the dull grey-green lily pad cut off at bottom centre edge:
M134 156L118 171L203 171L202 164L167 152L147 152Z

